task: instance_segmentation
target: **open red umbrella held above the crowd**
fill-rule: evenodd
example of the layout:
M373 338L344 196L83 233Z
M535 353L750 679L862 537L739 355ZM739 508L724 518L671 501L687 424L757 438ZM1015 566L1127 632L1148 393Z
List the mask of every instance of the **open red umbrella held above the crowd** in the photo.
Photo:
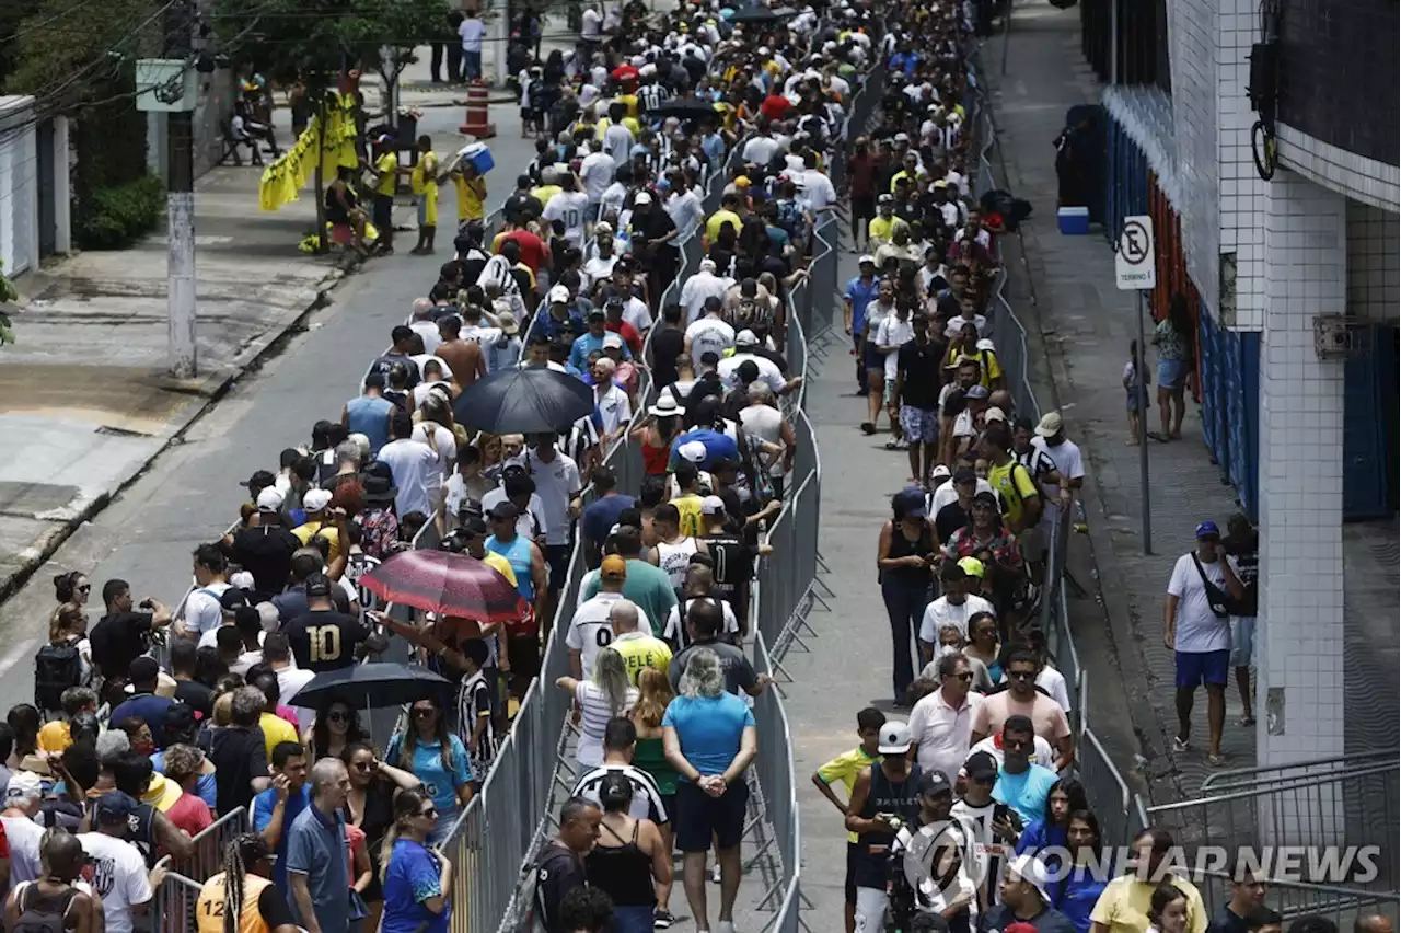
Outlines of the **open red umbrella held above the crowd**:
M496 567L465 553L405 551L356 581L385 602L478 622L511 622L525 600Z

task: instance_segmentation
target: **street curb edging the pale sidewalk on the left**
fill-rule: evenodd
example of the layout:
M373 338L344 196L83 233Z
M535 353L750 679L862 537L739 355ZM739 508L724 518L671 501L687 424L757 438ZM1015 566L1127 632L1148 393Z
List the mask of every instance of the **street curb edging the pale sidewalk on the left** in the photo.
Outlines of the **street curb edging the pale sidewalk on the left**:
M331 269L314 287L303 289L298 291L298 298L301 310L296 315L287 318L277 326L270 328L258 339L249 342L241 353L238 353L233 361L223 364L220 371L210 374L205 378L195 380L172 380L157 377L156 381L161 384L171 392L182 392L186 395L198 396L199 401L192 401L186 405L178 415L171 419L174 430L165 437L164 443L157 447L150 457L144 458L130 474L123 479L116 482L115 486L106 492L83 502L70 516L64 517L62 521L56 521L50 530L39 537L39 541L25 548L21 553L22 562L18 569L0 579L0 605L18 593L24 584L29 581L29 577L48 563L59 548L73 537L84 523L95 518L104 509L106 509L113 499L122 495L132 483L146 475L151 465L171 447L184 443L185 434L189 429L202 419L210 409L214 408L226 395L237 385L247 373L261 367L268 359L275 356L280 350L280 345L289 335L304 331L307 319L321 308L331 303L331 291L346 279L346 273L339 268ZM294 305L297 307L297 305ZM39 514L35 514L39 520Z

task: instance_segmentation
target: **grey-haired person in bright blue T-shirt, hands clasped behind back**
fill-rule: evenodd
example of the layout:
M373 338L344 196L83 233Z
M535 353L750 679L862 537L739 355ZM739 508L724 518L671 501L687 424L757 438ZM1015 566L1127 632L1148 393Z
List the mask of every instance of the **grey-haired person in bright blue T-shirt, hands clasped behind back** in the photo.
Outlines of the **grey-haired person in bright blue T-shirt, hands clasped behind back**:
M691 651L681 675L681 695L661 717L667 762L677 769L677 848L684 855L682 883L696 929L709 930L705 860L715 839L720 863L720 923L733 922L740 892L740 839L750 789L744 770L759 748L754 713L724 689L715 651Z

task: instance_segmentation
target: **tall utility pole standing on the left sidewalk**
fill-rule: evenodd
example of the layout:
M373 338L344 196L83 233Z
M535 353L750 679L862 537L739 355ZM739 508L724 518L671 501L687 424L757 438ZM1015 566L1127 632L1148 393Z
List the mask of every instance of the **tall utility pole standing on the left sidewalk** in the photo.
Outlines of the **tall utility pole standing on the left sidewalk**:
M168 57L193 67L193 7L178 0L165 11ZM167 119L165 189L168 244L168 326L167 346L171 375L181 380L198 373L195 343L195 115L192 109L171 111Z

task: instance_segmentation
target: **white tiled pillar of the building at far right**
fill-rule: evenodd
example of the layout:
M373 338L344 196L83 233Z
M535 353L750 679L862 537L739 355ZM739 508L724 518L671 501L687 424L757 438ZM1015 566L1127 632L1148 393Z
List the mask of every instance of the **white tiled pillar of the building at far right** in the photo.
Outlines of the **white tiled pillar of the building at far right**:
M1259 363L1261 768L1344 754L1344 364L1313 318L1346 300L1346 199L1281 170L1265 186ZM1320 807L1318 813L1334 813ZM1283 841L1296 828L1262 827ZM1325 831L1330 831L1325 828Z

